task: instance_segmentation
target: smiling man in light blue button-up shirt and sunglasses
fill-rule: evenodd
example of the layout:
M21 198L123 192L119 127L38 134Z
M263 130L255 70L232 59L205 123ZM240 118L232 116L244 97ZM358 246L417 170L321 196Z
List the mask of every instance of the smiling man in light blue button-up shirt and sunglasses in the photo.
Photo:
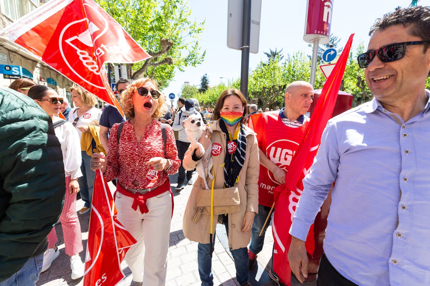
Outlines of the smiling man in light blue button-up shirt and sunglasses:
M430 8L378 19L359 55L372 101L329 121L290 229L307 277L307 232L332 182L317 285L430 285Z

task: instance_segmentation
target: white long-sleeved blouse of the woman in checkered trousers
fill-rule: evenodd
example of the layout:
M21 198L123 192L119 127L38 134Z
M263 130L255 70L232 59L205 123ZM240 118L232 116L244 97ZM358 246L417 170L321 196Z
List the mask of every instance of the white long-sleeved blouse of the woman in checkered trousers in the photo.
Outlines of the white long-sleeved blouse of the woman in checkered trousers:
M62 120L60 117L54 116L52 122L55 123ZM65 122L60 126L55 127L55 136L61 144L61 152L63 153L64 173L66 177L71 179L82 177L80 165L82 163L79 135L72 123Z

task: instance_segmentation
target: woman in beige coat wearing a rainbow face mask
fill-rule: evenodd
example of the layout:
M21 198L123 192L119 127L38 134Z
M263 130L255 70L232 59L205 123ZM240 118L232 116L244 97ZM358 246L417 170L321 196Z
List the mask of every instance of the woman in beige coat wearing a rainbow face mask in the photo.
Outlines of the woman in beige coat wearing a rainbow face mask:
M227 231L237 282L249 285L246 247L251 239L254 215L258 212L260 161L255 133L245 125L246 106L246 99L240 90L225 90L215 106L213 119L216 121L212 125L212 136L205 130L199 140L205 150L212 143L211 174L214 180L210 176L206 178L209 188L214 189L212 227L212 191L205 190L203 179L199 177L188 199L183 230L186 238L199 242L197 261L202 286L213 285L212 246L217 221L224 224ZM184 157L184 168L194 169L203 155L191 143Z

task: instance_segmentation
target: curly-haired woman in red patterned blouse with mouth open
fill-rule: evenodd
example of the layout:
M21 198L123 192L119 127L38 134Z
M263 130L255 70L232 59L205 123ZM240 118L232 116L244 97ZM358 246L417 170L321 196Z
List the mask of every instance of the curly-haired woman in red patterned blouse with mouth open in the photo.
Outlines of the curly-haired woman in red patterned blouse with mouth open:
M143 281L145 285L164 285L166 280L173 211L168 174L178 171L180 161L172 128L164 124L163 131L158 121L167 108L165 100L149 78L130 84L121 97L130 119L112 127L116 135L109 138L107 157L95 153L92 159L92 169L101 169L107 181L118 178L114 196L117 218L137 240L125 256L132 286Z

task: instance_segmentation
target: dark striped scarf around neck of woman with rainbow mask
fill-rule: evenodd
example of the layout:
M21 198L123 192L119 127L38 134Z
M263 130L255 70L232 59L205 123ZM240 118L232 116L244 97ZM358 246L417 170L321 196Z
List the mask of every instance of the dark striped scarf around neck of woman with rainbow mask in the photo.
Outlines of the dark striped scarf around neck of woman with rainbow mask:
M233 154L229 154L228 150L225 151L224 157L224 188L233 187L239 177L240 170L242 170L243 163L245 163L245 154L246 154L246 136L245 130L241 123L239 123L238 127L240 128L237 133L237 138L235 138L235 134L233 136L228 132L227 126L225 126L224 121L219 120L219 126L222 132L226 135L226 146L228 141L234 141L237 145L236 151ZM233 140L230 140L230 137ZM227 149L227 148L226 148Z

